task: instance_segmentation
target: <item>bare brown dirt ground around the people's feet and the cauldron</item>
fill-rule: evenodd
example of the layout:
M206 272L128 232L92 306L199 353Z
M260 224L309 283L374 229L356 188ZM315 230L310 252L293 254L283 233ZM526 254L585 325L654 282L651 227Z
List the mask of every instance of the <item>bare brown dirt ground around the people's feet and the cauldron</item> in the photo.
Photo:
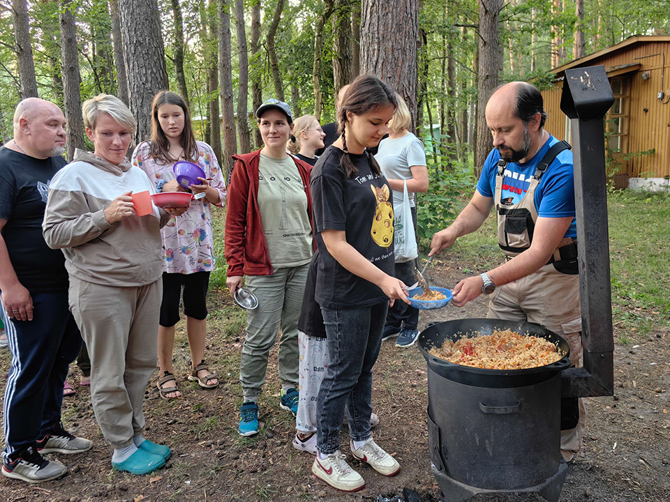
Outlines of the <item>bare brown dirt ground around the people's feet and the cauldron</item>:
M438 264L431 273L433 283L453 287L469 275L468 266L474 268L473 264L460 265ZM255 439L238 436L241 389L237 368L244 315L221 291L211 291L210 307L207 358L221 372L221 386L202 390L185 380L188 345L181 333L174 353L184 399L161 400L154 387L155 376L147 388L144 435L172 448L166 468L142 477L112 471L110 447L96 425L89 390L75 385L79 372L73 365L70 382L77 395L64 401L64 422L73 434L93 439L94 449L61 456L70 474L55 482L29 486L0 478L0 501L376 501L379 494L401 494L403 487L417 490L424 501L440 500L428 454L426 365L416 347L399 349L385 342L375 366L373 404L380 417L375 440L396 456L403 469L394 478L385 478L352 461L366 479L366 487L345 495L312 478L313 457L290 444L295 421L278 407L276 349L260 400L261 432ZM429 321L485 315L485 301L480 297L463 309L450 305L425 312L420 327ZM670 500L670 336L667 330L645 337L621 330L615 326L615 340L626 335L632 342L616 344L615 395L586 400L585 442L569 466L562 502ZM8 366L7 351L3 351L1 374L8 372ZM4 391L4 379L0 391ZM345 434L342 441L348 442ZM528 494L472 500L542 499Z

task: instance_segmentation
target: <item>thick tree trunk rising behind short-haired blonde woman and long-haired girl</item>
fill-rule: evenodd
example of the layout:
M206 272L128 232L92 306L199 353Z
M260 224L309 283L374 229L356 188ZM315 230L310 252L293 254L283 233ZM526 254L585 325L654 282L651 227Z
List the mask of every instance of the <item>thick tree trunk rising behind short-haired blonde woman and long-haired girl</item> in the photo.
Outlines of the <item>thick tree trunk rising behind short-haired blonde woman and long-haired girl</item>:
M165 46L156 0L119 0L121 37L128 75L128 101L137 119L138 144L151 135L151 102L168 89Z

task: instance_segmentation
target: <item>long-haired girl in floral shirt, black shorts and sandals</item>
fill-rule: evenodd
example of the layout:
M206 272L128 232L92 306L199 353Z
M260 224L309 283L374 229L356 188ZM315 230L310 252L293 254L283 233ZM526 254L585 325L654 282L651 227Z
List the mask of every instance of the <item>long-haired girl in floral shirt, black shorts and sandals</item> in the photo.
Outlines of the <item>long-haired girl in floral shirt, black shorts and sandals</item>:
M163 399L181 397L172 367L174 325L179 321L179 297L184 287L186 335L191 349L192 372L189 380L203 388L218 386L218 372L210 372L204 363L204 339L207 333L207 287L209 273L216 264L212 239L211 205L225 201L225 181L216 155L207 143L195 141L191 114L186 102L176 93L160 91L151 105L151 140L137 146L133 165L140 167L156 185L157 191L184 191L172 167L179 160L200 165L207 178L188 187L194 199L184 215L172 220L163 234L163 303L158 328L158 390Z

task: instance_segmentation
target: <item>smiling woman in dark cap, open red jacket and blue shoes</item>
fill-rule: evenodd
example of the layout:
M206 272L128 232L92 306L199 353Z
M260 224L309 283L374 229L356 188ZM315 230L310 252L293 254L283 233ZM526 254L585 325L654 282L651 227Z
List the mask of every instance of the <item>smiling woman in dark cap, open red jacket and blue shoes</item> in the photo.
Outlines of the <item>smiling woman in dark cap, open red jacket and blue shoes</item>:
M290 107L267 100L255 113L262 149L236 160L228 187L225 219L226 285L232 295L241 287L255 294L258 307L248 310L239 381L244 402L239 434L258 434L258 396L267 359L279 340L279 406L293 416L298 407L297 322L313 254L311 167L286 153L293 119Z

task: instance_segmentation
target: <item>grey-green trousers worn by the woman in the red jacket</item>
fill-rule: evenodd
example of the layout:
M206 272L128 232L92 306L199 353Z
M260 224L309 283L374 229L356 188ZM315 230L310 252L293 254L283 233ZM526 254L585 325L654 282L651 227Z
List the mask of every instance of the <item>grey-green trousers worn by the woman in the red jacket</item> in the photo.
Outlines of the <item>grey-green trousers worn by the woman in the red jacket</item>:
M272 275L246 275L246 289L258 307L246 312L246 338L239 362L244 399L260 395L270 349L279 339L278 370L283 385L298 388L298 319L309 264L275 268Z

